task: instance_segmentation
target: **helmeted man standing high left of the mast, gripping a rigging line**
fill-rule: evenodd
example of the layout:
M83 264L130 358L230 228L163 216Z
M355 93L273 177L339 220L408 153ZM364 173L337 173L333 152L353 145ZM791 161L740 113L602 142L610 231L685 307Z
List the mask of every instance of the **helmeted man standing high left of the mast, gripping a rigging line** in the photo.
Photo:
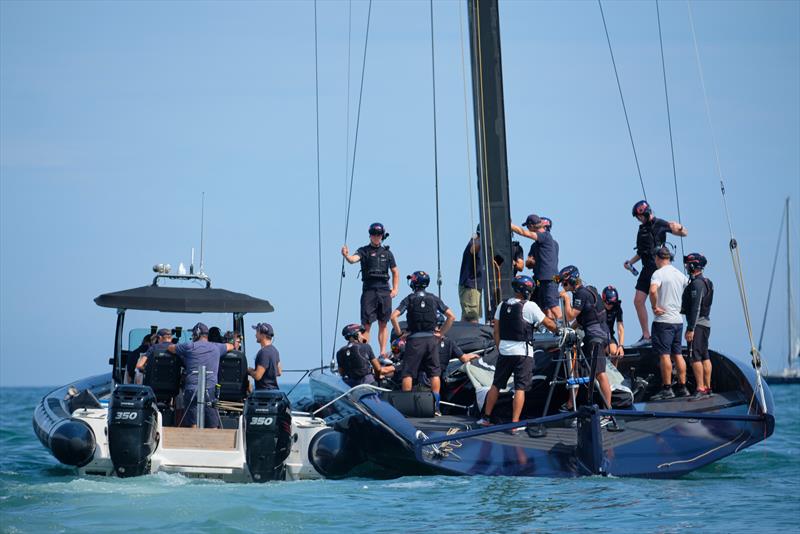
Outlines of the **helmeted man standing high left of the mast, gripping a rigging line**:
M350 255L347 245L342 247L342 256L348 263L361 263L361 324L369 342L372 323L378 321L378 348L381 356L386 354L389 341L389 315L392 312L392 299L400 288L400 272L394 261L394 254L383 240L389 233L381 223L369 226L369 244ZM389 272L392 273L392 287L389 288Z

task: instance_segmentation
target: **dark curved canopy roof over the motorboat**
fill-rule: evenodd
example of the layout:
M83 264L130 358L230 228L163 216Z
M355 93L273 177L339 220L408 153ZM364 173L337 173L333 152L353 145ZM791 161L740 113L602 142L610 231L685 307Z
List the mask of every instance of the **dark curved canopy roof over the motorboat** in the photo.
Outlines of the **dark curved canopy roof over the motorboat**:
M269 313L275 311L267 300L211 287L142 286L94 299L104 308L153 310L177 313Z

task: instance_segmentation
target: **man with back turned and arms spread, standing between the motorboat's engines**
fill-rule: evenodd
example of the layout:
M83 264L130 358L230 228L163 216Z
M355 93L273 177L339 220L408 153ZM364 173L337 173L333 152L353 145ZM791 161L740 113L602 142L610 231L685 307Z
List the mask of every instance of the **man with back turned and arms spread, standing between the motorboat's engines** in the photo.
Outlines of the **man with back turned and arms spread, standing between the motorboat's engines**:
M208 341L208 327L197 323L192 328L192 340L177 345L170 344L167 351L183 360L183 406L185 412L181 426L197 426L197 386L200 366L206 367L206 398L212 399L217 384L219 359L233 350L230 343ZM219 412L213 406L205 408L205 428L220 428Z

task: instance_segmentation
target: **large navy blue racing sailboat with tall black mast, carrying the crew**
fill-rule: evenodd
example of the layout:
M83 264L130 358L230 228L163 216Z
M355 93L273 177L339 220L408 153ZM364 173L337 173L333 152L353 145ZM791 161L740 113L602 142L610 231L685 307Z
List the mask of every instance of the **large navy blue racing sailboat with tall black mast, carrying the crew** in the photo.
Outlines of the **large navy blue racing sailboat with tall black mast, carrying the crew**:
M497 0L468 0L470 58L477 148L482 250L487 316L512 296L512 241L506 161L506 129ZM451 337L465 345L487 338L486 325L456 323ZM490 339L490 336L489 336ZM629 348L619 365L632 399L627 407L600 408L573 402L594 384L581 362L580 339L565 332L536 335L534 384L522 420L478 427L480 391L491 383L491 343L475 362L452 362L445 382L461 397L434 414L430 392L387 391L374 385L348 387L318 370L310 387L333 428L309 451L328 477L426 474L575 477L614 475L673 478L699 469L768 438L775 425L769 388L758 365L750 367L711 351L714 395L697 401L654 401L658 355ZM755 357L754 357L755 358ZM585 363L585 362L584 362ZM689 377L690 386L692 378ZM635 393L634 393L635 392ZM512 392L501 393L506 399ZM588 395L587 395L588 396ZM589 399L592 397L589 396ZM595 395L596 399L597 396ZM497 410L495 410L497 412ZM497 415L496 413L493 415ZM605 425L608 418L613 424ZM524 431L519 432L519 429ZM515 431L516 430L516 431Z

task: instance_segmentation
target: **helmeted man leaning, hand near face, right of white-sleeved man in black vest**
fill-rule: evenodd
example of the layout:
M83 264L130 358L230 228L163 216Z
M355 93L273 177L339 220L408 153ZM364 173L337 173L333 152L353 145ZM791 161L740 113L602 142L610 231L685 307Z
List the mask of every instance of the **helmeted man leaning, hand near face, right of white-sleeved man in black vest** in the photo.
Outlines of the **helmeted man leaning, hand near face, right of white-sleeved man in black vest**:
M606 374L606 347L608 346L608 326L606 325L606 309L597 289L587 286L581 280L581 273L574 265L567 265L558 273L561 282L560 296L564 299L565 320L576 321L583 329L583 355L591 366L589 388L589 404L594 396L594 380L600 386L600 393L606 407L611 408L611 384ZM572 292L570 300L567 291Z

